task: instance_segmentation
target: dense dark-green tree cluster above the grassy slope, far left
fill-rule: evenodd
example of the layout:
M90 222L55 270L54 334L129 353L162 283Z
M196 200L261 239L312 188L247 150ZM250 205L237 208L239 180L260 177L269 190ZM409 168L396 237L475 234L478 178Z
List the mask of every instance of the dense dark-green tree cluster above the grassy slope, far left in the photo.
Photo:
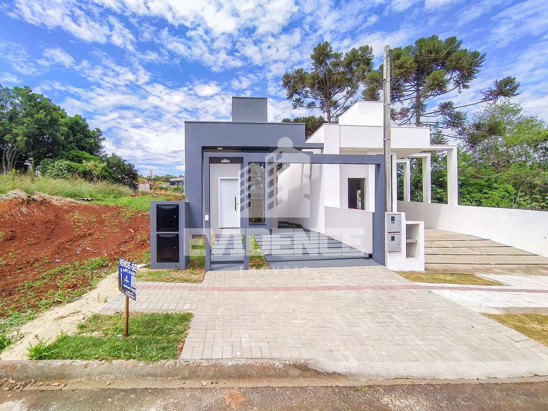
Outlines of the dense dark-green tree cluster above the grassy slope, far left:
M31 164L42 175L76 175L97 181L109 179L136 189L133 164L104 155L100 129L90 129L84 117L67 116L61 107L33 93L30 87L0 85L0 147L2 170Z

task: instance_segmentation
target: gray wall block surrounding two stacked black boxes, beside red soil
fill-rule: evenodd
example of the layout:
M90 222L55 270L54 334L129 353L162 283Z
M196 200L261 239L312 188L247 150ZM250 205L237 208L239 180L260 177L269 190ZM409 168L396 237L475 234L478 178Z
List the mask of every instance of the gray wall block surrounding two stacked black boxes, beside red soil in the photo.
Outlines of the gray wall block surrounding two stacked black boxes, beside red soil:
M156 206L167 204L179 205L179 262L158 262L156 244ZM189 202L188 201L151 201L150 202L150 267L151 269L186 269L190 256L190 232L189 232ZM160 234L172 232L162 231ZM173 232L174 233L174 232Z

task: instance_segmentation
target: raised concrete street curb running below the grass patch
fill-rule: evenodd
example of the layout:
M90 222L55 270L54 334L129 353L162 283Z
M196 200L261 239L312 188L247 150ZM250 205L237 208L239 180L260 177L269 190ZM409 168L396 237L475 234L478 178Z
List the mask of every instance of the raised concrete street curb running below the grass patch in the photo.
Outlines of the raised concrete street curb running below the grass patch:
M105 380L105 379L236 379L314 378L329 379L340 374L309 367L307 361L206 359L158 362L82 360L4 360L0 376L14 380Z

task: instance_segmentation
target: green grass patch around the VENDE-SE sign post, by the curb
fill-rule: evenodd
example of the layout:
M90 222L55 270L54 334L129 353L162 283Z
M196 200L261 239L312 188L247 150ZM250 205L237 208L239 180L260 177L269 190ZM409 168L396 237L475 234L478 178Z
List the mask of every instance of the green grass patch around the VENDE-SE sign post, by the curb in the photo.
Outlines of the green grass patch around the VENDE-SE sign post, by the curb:
M130 313L129 336L123 337L123 313L95 314L78 324L75 335L60 335L52 344L31 347L31 359L177 359L192 314Z

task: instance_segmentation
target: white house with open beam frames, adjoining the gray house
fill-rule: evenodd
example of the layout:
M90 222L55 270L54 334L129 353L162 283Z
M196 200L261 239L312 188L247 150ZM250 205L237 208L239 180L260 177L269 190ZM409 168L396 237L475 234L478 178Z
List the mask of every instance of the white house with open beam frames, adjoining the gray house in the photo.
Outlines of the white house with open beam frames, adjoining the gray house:
M338 124L323 124L307 142L323 144L317 153L340 155L382 155L383 154L383 102L357 101L339 117ZM424 222L406 218L398 210L396 164L404 164L404 196L409 198L409 159L418 157L425 162L424 198L429 198L430 153L443 150L448 153L448 197L457 202L456 146L431 145L428 127L402 127L392 125L392 210L398 214L401 224L392 237L394 251L387 248L386 265L395 270L424 270ZM278 215L303 227L339 239L364 252L371 252L372 227L375 201L375 169L372 165L292 164L278 175ZM310 180L310 202L317 204L307 210L300 210L295 192L302 190L301 181ZM290 216L295 210L302 215ZM389 229L390 231L390 229ZM393 242L392 241L392 242Z

